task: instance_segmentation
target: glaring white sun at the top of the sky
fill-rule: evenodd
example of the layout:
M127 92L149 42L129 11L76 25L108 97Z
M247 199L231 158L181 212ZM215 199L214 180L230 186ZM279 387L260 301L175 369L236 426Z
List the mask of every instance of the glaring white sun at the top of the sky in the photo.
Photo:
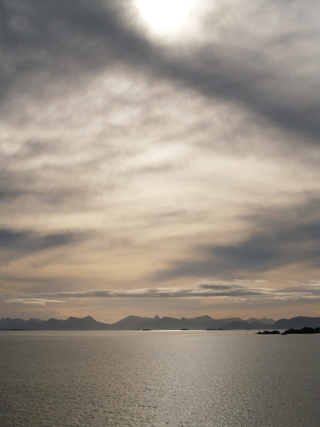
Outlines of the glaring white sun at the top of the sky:
M191 15L195 0L136 0L140 18L149 29L166 35L178 32Z

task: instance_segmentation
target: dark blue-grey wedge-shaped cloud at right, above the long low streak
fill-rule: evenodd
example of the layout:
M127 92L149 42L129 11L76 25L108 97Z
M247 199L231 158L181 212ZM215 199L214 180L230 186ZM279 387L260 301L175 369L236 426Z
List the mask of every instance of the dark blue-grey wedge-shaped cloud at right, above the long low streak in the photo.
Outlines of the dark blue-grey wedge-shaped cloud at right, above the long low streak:
M174 262L157 273L160 280L183 276L241 277L293 263L319 265L319 199L303 206L265 210L247 217L249 236L240 243L194 248L192 259ZM314 218L314 215L316 217Z

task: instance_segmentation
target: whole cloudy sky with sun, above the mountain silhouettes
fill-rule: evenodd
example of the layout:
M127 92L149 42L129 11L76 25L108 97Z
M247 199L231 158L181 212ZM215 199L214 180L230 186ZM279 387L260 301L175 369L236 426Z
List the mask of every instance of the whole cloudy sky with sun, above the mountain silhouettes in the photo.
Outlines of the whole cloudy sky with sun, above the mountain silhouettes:
M0 317L319 316L319 17L0 1Z

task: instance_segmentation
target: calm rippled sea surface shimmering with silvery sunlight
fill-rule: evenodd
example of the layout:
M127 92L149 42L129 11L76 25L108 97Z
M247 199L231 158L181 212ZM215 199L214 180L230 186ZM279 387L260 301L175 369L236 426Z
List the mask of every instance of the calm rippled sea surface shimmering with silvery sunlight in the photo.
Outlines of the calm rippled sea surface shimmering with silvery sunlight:
M0 331L1 427L319 427L320 334Z

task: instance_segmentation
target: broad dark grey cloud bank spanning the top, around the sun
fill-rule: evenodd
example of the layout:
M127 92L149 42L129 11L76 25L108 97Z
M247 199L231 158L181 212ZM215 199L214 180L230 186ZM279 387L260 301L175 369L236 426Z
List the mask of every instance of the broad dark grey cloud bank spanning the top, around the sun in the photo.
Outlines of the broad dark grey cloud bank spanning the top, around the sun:
M3 0L2 97L11 87L39 92L38 84L30 80L28 87L24 81L32 73L69 76L70 83L80 84L82 77L107 67L130 66L132 72L170 79L207 97L244 104L317 143L317 1L221 2L203 21L209 38L187 49L175 47L175 54L128 22L129 6L129 1L119 7L102 0Z

